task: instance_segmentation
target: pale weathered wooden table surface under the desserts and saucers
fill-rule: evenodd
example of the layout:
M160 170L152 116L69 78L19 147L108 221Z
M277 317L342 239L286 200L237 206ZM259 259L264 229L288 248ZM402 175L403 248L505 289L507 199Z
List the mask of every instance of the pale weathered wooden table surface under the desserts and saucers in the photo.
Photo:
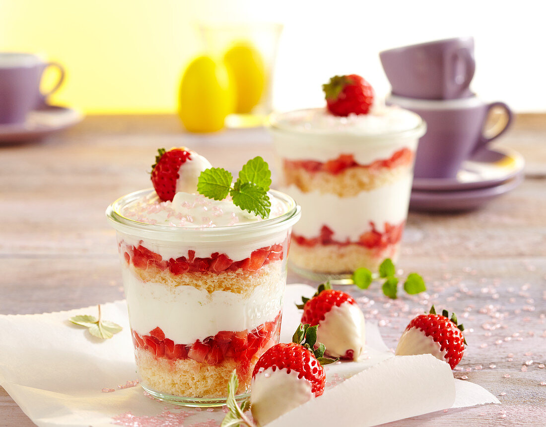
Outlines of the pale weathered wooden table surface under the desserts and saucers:
M454 375L490 390L502 405L393 425L546 423L546 116L518 116L498 143L524 155L520 187L479 211L409 215L397 267L421 273L428 293L393 301L377 285L347 289L393 347L413 312L431 303L457 312L469 346ZM263 129L189 135L174 116L92 116L41 142L0 146L0 314L123 298L104 210L150 187L158 147L182 145L232 171L256 155L273 164ZM296 281L308 282L290 274ZM0 425L33 425L2 388Z

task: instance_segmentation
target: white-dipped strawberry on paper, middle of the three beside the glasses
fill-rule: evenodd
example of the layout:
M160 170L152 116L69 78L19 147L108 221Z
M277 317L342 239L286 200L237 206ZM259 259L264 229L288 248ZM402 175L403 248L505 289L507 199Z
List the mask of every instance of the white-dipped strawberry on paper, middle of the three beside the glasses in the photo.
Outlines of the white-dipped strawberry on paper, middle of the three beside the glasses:
M357 360L364 351L365 321L355 300L332 289L329 282L318 287L313 298L302 298L302 323L318 325L317 339L327 347L327 354Z

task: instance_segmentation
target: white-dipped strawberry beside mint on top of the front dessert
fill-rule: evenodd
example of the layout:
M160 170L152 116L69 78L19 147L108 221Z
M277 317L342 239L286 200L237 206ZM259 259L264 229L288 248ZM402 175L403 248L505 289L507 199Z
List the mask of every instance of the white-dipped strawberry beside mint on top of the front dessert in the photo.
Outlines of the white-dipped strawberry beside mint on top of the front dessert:
M212 165L203 156L186 147L158 149L152 165L152 184L159 199L173 201L179 191L196 193L199 175Z

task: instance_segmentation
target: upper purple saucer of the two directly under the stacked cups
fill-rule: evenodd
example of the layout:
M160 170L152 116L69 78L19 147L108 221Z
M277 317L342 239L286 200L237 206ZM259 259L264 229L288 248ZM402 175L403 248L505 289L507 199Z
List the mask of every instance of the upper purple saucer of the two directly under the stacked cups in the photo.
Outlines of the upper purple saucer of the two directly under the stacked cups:
M494 187L517 176L523 156L508 148L483 149L462 164L456 178L413 178L413 190L460 191Z

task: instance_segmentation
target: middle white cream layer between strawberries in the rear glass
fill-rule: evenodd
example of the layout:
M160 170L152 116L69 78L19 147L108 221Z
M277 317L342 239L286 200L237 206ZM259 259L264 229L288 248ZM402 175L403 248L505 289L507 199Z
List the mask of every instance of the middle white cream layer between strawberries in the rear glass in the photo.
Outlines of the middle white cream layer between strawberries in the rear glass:
M384 232L385 222L398 225L405 221L411 186L412 175L407 173L394 183L361 191L354 197L321 194L318 190L304 193L295 185L282 191L301 206L301 220L294 225L294 234L312 239L327 225L334 232L334 240L345 242L369 231L370 222L377 231Z

